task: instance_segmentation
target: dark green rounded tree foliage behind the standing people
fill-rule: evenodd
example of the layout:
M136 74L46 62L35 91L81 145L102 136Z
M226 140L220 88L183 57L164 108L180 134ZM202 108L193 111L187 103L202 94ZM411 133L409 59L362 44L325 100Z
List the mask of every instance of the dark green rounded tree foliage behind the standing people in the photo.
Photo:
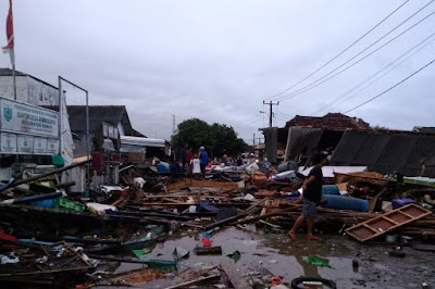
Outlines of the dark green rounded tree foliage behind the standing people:
M178 133L172 137L172 146L178 151L184 144L190 144L192 151L198 151L199 147L206 147L210 156L222 156L224 153L236 155L244 152L246 143L237 138L237 133L233 127L224 124L208 123L191 118L178 125Z

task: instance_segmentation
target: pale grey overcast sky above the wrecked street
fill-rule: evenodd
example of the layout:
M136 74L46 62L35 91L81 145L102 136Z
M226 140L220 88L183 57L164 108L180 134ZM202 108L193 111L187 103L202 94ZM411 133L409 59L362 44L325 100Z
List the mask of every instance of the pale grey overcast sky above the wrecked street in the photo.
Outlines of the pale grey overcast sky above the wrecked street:
M20 0L14 1L16 70L55 86L61 75L88 89L90 104L125 104L134 128L149 137L170 138L175 115L177 124L198 117L234 126L252 143L252 134L259 137L258 128L268 126L269 116L259 112L268 110L264 99L319 68L403 2ZM288 93L336 68L427 2L409 1ZM3 45L8 8L2 0ZM430 4L361 56L434 10ZM274 106L274 126L284 126L296 114L313 115L330 103L335 106L340 101L334 99L433 33L435 15L337 77L282 100ZM378 95L432 61L434 48L430 43L341 105L316 115L345 112ZM10 67L7 54L0 61ZM395 129L435 126L434 79L435 64L349 115ZM67 96L69 104L83 103L79 91L70 88Z

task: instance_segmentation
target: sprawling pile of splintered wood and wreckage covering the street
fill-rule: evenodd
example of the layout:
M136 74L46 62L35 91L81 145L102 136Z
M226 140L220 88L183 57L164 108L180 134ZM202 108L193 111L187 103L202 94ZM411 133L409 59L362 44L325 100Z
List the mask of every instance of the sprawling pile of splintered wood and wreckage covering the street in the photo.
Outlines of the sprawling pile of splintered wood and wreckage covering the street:
M71 192L74 184L55 181L57 173L17 176L0 188L0 282L91 287L160 279L165 280L164 288L291 286L291 280L264 271L240 276L234 262L243 247L225 252L213 236L225 226L248 230L249 223L286 235L302 211L304 176L298 172L277 173L256 164L244 169L212 167L200 178L190 178L184 173L159 173L152 165L128 165L120 168L120 184L91 186L86 193ZM390 238L394 233L393 243L432 248L423 243L435 239L432 180L366 172L335 174L322 193L319 231L349 235L361 242L383 235ZM173 246L177 236L186 235L197 243ZM170 253L152 254L169 241ZM191 255L204 263L182 266ZM210 255L226 255L234 262L208 265ZM306 262L333 268L315 255ZM137 267L120 271L120 264ZM295 282L303 281L335 286L312 278Z

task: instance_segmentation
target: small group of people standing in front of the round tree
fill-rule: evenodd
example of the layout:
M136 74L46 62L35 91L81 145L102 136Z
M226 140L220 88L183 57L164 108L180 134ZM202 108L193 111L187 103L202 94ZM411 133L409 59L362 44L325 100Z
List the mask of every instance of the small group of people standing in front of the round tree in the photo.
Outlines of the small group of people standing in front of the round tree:
M209 164L209 154L204 147L200 147L198 152L195 153L191 150L191 147L186 143L179 153L182 172L185 172L186 175L203 175L206 166Z

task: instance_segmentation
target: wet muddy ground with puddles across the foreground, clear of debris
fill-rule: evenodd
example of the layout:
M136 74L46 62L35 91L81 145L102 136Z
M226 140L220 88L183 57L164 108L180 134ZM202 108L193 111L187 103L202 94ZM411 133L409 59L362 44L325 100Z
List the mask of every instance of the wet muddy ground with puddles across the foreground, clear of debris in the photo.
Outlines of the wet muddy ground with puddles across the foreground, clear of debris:
M178 263L178 271L199 269L204 265L217 265L231 262L240 276L258 278L254 274L262 268L273 275L281 276L290 284L300 276L320 276L332 279L337 288L422 288L422 282L435 287L435 254L415 251L402 247L405 257L389 256L393 251L389 243L361 244L346 236L321 235L321 241L308 241L300 231L298 240L291 241L286 231L270 234L254 226L241 228L224 228L213 233L213 246L221 246L223 255L196 255L192 250L200 241L201 233L184 233L167 237L163 244L150 248L149 259L173 260L175 247L190 250L188 259ZM235 262L225 252L238 250L241 257ZM306 263L309 255L328 260L334 267L320 267ZM352 266L358 261L358 268ZM116 273L139 269L141 265L121 264ZM251 275L251 276L247 276ZM261 277L261 276L260 276ZM165 288L182 281L181 277L162 278L147 284L138 284L140 288Z

